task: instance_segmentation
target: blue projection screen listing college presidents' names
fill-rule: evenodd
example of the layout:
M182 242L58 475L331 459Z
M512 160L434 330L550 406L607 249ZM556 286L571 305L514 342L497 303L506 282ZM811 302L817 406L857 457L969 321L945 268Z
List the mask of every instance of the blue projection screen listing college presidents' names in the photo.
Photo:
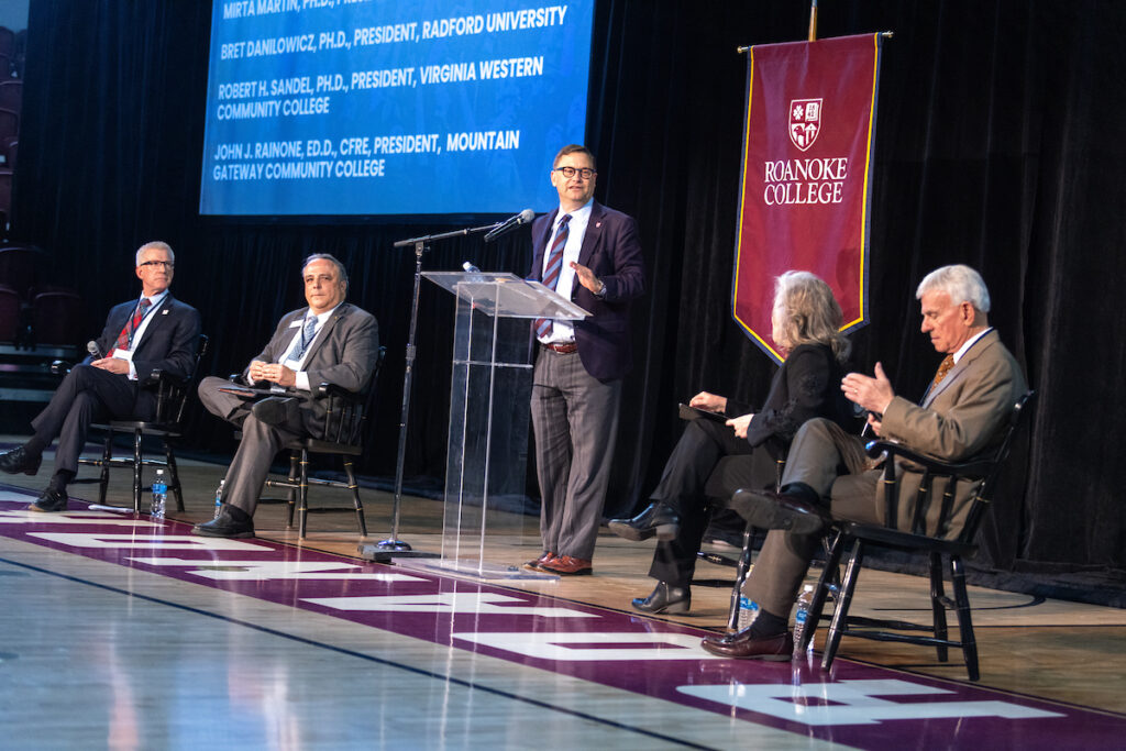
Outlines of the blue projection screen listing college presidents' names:
M199 213L511 214L582 143L593 0L214 0Z

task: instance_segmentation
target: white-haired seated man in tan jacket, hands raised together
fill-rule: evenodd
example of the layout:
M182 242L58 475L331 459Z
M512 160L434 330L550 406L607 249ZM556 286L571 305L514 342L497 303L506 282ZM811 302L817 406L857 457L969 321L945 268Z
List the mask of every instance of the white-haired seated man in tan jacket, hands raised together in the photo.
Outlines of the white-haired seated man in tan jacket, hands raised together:
M922 306L922 332L946 354L922 402L896 396L878 363L875 377L850 373L841 391L868 411L868 424L882 438L944 462L989 454L1027 390L1020 366L986 320L989 290L972 268L945 266L923 278L915 297ZM849 472L840 474L841 466ZM781 492L739 491L732 499L744 519L771 530L744 588L759 604L759 615L735 634L705 638L704 649L731 658L788 660L794 650L789 611L822 530L830 518L883 524L884 504L877 494L882 474L864 465L856 436L821 418L802 426L790 445ZM902 465L896 474L900 498L912 498L920 474ZM936 493L941 490L936 485ZM955 494L956 526L965 520L974 490L967 483ZM899 518L910 524L913 511L901 509Z

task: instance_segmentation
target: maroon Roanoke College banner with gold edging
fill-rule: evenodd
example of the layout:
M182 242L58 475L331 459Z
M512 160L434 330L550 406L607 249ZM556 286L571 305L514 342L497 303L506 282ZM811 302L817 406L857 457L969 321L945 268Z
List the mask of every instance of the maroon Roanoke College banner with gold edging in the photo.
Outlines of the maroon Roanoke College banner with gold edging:
M748 55L732 315L779 363L774 279L812 271L867 322L868 225L879 34L768 44Z

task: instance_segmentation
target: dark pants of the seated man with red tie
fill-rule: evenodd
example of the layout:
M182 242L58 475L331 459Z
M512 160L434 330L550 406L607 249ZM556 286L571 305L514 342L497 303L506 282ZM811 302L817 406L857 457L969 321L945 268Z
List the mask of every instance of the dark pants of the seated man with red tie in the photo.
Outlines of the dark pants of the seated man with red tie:
M90 423L107 419L146 420L154 404L140 399L136 381L91 365L75 365L55 390L47 406L32 420L35 436L46 445L59 438L55 471L78 473L78 457Z

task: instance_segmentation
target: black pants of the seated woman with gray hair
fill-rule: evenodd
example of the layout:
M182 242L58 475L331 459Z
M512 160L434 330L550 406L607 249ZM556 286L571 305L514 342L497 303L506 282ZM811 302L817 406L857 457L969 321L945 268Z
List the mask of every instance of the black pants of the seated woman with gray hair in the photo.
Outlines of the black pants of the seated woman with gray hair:
M721 462L724 457L730 458ZM650 495L680 512L680 531L674 539L656 544L649 575L672 587L688 587L707 529L707 499L727 498L740 488L772 488L775 467L766 447L752 448L722 422L689 422Z

